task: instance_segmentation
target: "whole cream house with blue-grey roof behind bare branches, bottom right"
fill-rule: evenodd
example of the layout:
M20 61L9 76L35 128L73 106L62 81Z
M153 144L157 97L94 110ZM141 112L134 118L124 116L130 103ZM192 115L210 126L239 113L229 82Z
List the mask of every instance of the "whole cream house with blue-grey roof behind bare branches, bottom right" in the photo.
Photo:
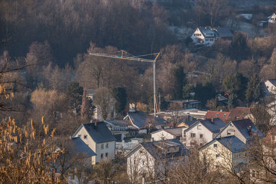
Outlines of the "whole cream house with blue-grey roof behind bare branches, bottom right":
M237 139L236 136L226 136L213 139L199 148L201 159L206 159L210 170L227 170L235 169L236 172L244 170L248 150L246 144Z

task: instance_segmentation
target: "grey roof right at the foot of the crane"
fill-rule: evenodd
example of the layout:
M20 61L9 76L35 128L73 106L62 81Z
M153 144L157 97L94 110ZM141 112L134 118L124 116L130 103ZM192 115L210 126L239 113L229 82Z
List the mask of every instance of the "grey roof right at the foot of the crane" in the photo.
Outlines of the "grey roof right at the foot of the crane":
M146 114L145 112L136 111L136 112L128 112L128 117L132 121L134 125L136 125L139 128L147 127L148 121L153 120L155 125L166 125L168 122L164 119L151 116L149 114Z

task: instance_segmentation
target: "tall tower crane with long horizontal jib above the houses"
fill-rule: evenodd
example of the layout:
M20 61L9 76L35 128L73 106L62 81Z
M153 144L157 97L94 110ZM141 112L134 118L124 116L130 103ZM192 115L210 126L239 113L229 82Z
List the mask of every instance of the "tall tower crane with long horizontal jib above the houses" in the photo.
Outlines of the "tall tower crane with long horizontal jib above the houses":
M97 56L97 57L109 57L109 58L114 58L114 59L125 59L125 60L130 60L130 61L140 61L140 62L148 62L148 63L152 63L153 64L153 108L155 111L155 116L157 113L159 113L159 107L157 105L157 97L156 97L156 76L155 76L155 63L157 61L157 58L160 55L160 52L154 53L154 54L145 54L145 55L141 55L141 56L131 56L128 57L128 52L124 51L124 50L120 50L119 52L121 52L121 55L114 55L114 54L103 54L103 53L92 53L90 52L89 55L92 56ZM143 59L140 57L144 57L144 56L148 56L148 55L156 55L155 59Z

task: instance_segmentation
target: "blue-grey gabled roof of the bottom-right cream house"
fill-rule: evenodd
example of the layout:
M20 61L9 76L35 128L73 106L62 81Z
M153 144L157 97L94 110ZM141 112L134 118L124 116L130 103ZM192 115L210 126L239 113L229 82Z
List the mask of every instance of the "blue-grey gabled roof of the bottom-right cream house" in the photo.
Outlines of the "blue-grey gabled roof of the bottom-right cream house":
M204 147L208 147L208 145L214 143L215 141L218 141L233 153L243 152L248 148L246 144L243 143L241 140L239 140L236 136L225 136L225 137L219 137L219 138L213 139L212 141L210 141L200 149L202 150Z

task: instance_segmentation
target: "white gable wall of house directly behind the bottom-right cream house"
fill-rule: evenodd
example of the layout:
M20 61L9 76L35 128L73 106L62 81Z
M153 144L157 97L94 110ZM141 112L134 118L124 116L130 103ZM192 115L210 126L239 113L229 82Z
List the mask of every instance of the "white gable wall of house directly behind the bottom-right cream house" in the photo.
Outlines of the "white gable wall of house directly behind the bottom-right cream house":
M185 131L185 130L184 130ZM186 145L191 146L193 144L204 145L214 139L217 134L210 132L202 123L198 123L190 130L185 131L184 140L186 139Z

